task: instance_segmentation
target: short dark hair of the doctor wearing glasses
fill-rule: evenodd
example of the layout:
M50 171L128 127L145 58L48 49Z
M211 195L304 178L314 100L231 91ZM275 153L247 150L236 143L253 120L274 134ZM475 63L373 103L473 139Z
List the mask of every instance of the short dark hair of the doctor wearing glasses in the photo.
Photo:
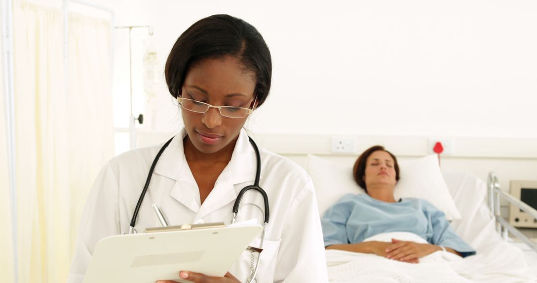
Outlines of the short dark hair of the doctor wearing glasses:
M188 69L204 59L235 56L256 76L254 95L259 106L269 95L272 60L269 47L255 27L227 14L201 19L179 36L170 51L164 74L170 94L177 98Z

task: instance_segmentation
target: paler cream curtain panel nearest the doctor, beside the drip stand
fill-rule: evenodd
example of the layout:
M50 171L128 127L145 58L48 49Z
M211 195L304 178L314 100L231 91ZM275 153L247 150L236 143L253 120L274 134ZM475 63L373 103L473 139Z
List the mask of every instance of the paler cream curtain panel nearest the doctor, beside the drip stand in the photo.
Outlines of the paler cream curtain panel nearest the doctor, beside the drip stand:
M111 23L69 14L68 114L70 249L89 189L104 163L114 156Z

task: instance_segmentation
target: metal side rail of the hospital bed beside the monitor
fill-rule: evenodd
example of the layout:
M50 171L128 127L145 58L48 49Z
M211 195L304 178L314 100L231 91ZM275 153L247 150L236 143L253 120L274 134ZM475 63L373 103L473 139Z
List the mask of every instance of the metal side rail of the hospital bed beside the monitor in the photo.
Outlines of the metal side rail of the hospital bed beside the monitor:
M494 172L489 173L489 177L487 180L487 188L489 190L489 193L488 193L489 207L490 207L490 211L492 212L492 215L494 215L494 217L496 218L496 230L498 231L498 233L502 234L503 238L506 240L508 236L507 234L511 232L511 234L516 236L520 241L527 244L534 251L537 251L537 243L529 239L526 235L522 234L517 228L512 226L509 223L509 221L505 220L502 217L502 215L500 214L500 199L503 198L507 200L508 202L517 206L518 208L528 213L535 219L537 219L537 210L525 204L520 199L514 198L509 193L506 193L500 190L498 177L496 176L496 173Z

